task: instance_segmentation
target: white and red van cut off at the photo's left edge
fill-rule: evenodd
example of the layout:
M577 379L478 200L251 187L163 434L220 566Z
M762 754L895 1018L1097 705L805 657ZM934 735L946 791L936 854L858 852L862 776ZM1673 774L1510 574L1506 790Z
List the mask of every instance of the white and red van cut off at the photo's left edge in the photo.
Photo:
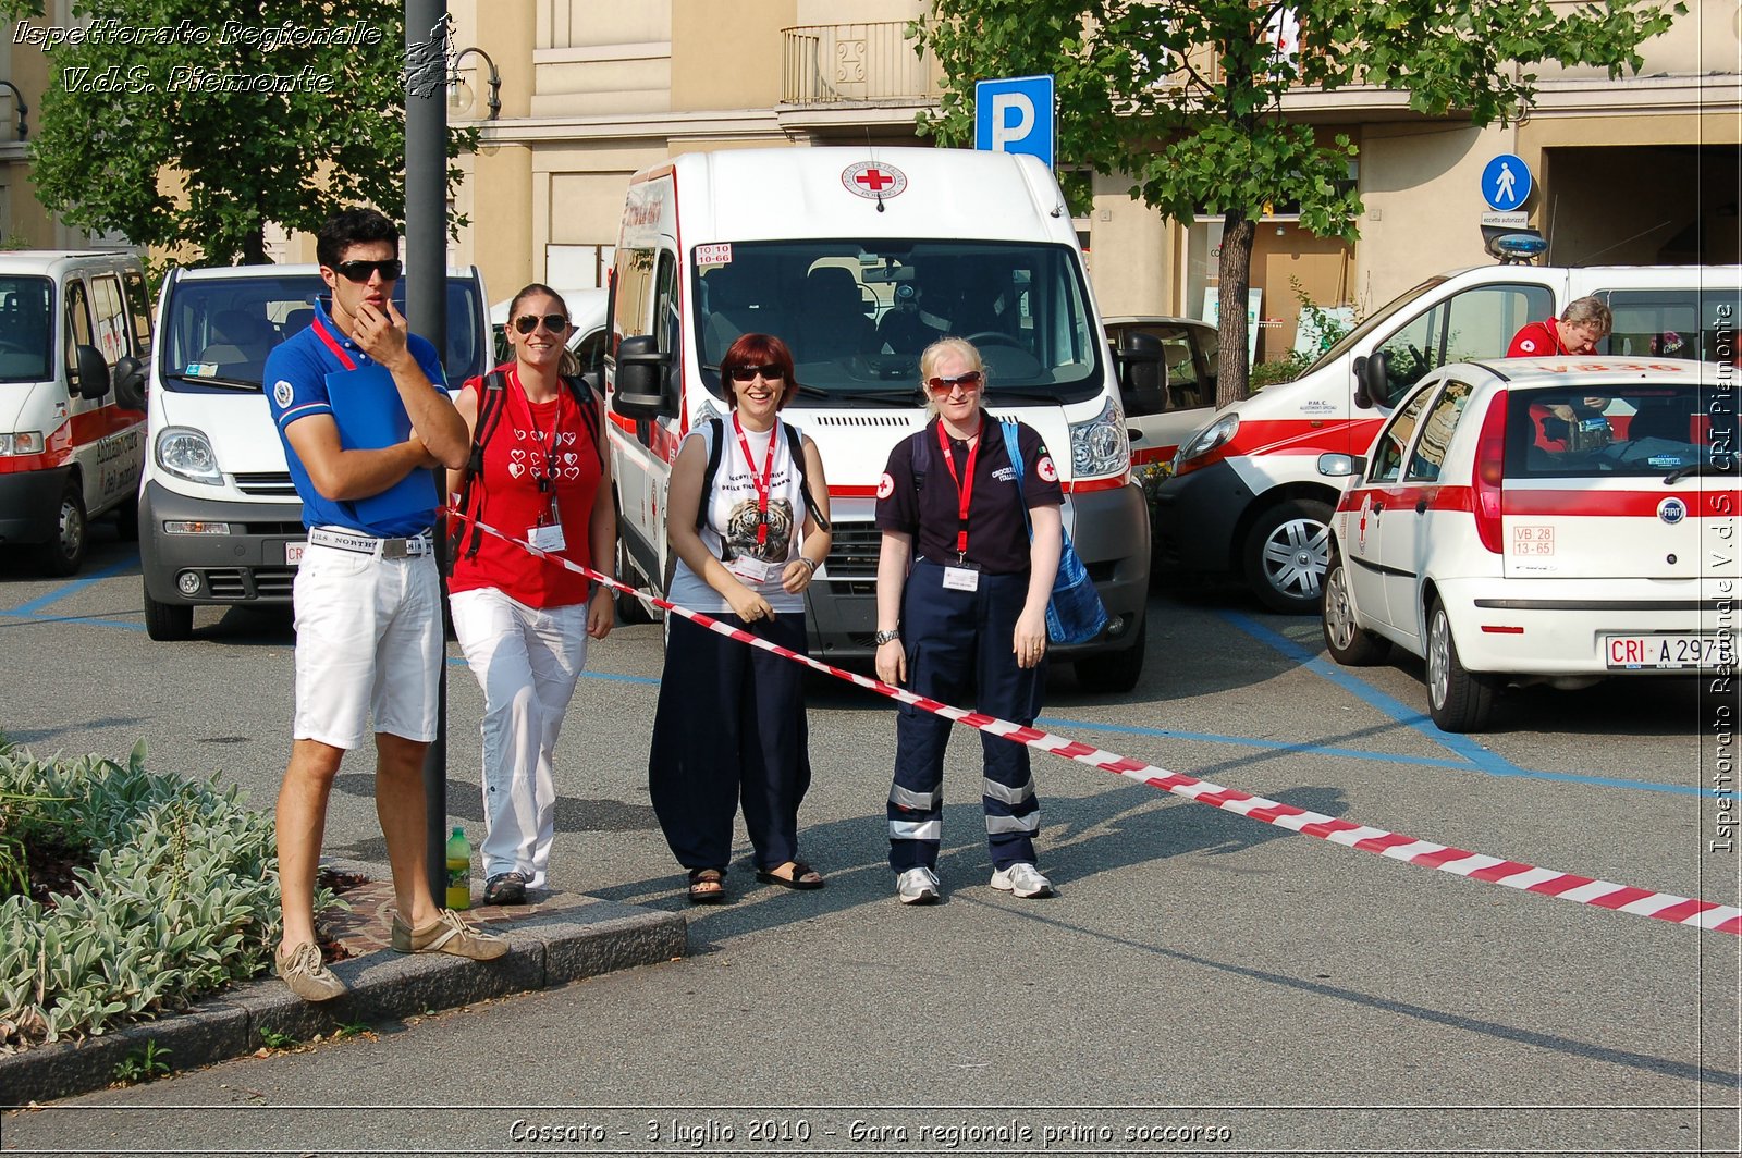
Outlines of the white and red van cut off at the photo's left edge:
M0 254L0 543L49 575L85 557L87 521L136 533L152 300L125 252Z

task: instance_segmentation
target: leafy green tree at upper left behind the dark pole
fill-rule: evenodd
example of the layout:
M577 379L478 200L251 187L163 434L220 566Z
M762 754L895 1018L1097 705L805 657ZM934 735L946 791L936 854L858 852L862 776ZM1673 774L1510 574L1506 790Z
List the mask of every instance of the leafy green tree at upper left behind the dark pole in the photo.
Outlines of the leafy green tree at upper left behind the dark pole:
M404 218L399 0L77 0L82 35L40 9L0 0L37 17L31 181L68 225L230 265L265 261L268 223L312 232L357 202ZM476 141L449 136L449 155Z

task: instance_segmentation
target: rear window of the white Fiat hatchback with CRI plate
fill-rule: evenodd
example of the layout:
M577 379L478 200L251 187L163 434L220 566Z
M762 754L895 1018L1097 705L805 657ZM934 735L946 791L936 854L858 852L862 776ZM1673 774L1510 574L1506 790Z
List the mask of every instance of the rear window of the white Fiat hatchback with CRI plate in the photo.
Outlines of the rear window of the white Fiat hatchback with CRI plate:
M1733 468L1739 451L1733 388L1641 381L1512 390L1507 399L1509 479Z

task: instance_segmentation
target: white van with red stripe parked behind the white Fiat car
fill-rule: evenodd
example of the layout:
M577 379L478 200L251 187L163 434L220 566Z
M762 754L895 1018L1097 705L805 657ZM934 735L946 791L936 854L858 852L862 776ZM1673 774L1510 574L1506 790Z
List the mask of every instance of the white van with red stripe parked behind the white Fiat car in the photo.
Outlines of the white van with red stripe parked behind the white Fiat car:
M1742 266L1491 265L1432 277L1294 381L1205 413L1157 493L1157 566L1239 575L1277 611L1317 613L1340 493L1319 475L1319 454L1364 454L1430 371L1502 357L1521 326L1583 296L1615 313L1601 355L1737 359Z

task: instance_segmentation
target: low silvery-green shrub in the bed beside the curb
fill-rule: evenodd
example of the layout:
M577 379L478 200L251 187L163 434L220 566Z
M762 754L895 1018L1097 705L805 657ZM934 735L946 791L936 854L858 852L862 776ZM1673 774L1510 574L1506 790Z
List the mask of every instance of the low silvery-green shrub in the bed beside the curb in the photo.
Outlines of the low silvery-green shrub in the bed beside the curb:
M7 831L52 834L89 867L49 906L0 900L0 1050L185 1008L272 961L272 818L240 791L127 764L0 749ZM321 890L315 909L343 906Z

